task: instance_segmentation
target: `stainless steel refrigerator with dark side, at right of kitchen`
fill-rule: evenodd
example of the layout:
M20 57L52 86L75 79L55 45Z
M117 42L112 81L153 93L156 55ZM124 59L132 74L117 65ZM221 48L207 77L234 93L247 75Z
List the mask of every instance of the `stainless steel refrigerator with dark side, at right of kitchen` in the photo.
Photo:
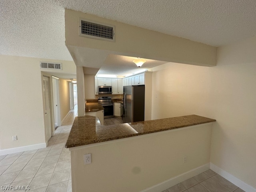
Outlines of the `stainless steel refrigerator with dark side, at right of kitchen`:
M145 85L124 86L123 122L144 121Z

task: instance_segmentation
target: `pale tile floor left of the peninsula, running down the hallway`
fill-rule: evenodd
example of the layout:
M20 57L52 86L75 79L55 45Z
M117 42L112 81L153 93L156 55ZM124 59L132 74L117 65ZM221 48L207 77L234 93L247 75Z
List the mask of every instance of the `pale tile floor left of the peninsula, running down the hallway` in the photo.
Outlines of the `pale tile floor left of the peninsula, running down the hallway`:
M0 192L72 192L70 152L64 145L76 114L77 106L46 148L0 156ZM2 186L30 186L30 190L6 190Z

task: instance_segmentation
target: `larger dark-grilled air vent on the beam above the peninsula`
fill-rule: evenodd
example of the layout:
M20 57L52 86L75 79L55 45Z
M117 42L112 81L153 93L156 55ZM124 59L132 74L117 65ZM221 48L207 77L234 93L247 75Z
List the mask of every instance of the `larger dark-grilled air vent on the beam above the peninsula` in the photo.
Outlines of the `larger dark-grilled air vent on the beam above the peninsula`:
M79 18L79 36L115 42L115 26Z

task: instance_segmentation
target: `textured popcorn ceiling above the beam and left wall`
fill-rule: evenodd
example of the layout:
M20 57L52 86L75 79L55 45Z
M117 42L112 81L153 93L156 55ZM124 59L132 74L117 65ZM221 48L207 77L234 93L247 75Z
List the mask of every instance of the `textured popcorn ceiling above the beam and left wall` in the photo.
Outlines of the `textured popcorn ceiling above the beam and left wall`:
M0 0L0 54L72 60L64 8L212 46L256 35L256 0Z

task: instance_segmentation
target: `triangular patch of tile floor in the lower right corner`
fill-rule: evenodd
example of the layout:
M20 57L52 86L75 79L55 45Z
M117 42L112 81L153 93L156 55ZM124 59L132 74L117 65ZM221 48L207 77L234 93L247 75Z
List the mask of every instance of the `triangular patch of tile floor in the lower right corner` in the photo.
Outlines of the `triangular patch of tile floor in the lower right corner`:
M244 192L212 170L207 170L162 192Z

